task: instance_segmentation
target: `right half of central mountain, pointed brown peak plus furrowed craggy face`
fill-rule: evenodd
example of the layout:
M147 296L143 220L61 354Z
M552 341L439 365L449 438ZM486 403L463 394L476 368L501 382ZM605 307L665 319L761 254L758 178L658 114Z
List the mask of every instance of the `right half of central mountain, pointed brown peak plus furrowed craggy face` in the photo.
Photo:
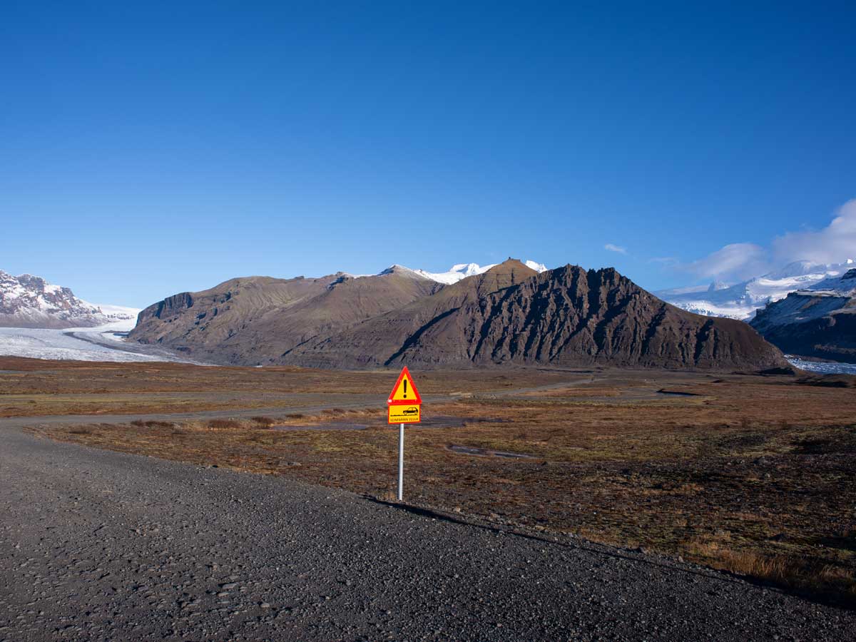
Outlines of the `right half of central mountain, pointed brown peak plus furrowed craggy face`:
M497 265L401 310L308 342L285 362L322 367L787 367L782 354L747 324L684 312L614 269L566 265L541 275L530 270L526 276L521 266L516 261Z

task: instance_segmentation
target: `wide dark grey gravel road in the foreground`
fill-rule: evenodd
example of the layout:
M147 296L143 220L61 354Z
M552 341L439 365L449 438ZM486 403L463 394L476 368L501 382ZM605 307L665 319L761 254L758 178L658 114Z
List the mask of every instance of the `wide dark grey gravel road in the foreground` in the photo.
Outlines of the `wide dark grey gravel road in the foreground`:
M853 611L657 556L6 426L0 507L0 640L852 640L856 631Z

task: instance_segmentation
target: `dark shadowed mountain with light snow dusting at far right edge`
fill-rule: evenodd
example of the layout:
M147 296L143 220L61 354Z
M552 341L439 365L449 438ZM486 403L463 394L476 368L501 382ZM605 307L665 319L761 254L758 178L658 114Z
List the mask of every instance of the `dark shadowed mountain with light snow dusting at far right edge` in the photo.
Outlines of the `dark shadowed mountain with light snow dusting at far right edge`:
M788 354L856 361L856 269L770 303L752 327Z

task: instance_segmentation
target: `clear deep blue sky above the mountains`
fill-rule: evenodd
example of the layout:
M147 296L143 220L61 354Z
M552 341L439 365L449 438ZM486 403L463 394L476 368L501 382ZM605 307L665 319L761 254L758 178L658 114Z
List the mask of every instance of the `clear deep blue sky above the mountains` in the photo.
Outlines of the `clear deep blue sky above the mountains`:
M856 197L856 5L787 4L4 2L0 269L704 280Z

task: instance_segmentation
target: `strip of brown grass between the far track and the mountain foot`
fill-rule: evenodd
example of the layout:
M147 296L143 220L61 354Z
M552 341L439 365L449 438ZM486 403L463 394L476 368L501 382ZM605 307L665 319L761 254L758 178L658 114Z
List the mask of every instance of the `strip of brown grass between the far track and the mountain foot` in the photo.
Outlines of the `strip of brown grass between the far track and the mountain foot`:
M568 380L539 370L420 373L423 395L502 390ZM383 397L395 371L327 372L293 366L246 368L175 363L92 363L0 357L0 417L42 414L189 413L238 408L336 407L356 395ZM391 381L390 381L391 379Z

